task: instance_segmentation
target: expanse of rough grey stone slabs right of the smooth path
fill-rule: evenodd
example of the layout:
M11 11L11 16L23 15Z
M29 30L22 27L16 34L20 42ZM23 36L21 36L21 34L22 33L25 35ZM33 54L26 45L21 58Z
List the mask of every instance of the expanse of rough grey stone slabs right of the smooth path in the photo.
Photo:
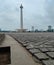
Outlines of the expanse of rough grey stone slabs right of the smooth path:
M54 65L54 33L10 34L42 65Z

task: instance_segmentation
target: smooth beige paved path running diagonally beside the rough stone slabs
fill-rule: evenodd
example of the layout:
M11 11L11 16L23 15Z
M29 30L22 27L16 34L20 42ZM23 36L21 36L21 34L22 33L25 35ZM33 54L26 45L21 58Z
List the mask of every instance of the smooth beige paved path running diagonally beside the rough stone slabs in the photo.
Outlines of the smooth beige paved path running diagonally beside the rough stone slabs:
M10 65L40 65L36 63L32 56L17 41L9 35L6 35L1 46L11 47L11 64Z

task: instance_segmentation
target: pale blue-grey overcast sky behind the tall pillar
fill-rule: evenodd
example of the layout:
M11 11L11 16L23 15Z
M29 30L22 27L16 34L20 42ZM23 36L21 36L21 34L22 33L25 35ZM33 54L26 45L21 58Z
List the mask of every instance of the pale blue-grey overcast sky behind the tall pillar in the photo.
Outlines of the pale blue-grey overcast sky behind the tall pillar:
M20 5L23 5L24 28L47 29L54 26L54 0L0 0L0 28L20 28Z

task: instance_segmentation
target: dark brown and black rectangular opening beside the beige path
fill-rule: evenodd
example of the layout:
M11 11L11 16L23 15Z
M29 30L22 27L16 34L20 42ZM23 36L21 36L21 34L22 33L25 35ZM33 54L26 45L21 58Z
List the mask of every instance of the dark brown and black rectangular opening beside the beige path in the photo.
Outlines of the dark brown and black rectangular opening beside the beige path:
M0 47L0 65L1 64L11 64L10 46Z

